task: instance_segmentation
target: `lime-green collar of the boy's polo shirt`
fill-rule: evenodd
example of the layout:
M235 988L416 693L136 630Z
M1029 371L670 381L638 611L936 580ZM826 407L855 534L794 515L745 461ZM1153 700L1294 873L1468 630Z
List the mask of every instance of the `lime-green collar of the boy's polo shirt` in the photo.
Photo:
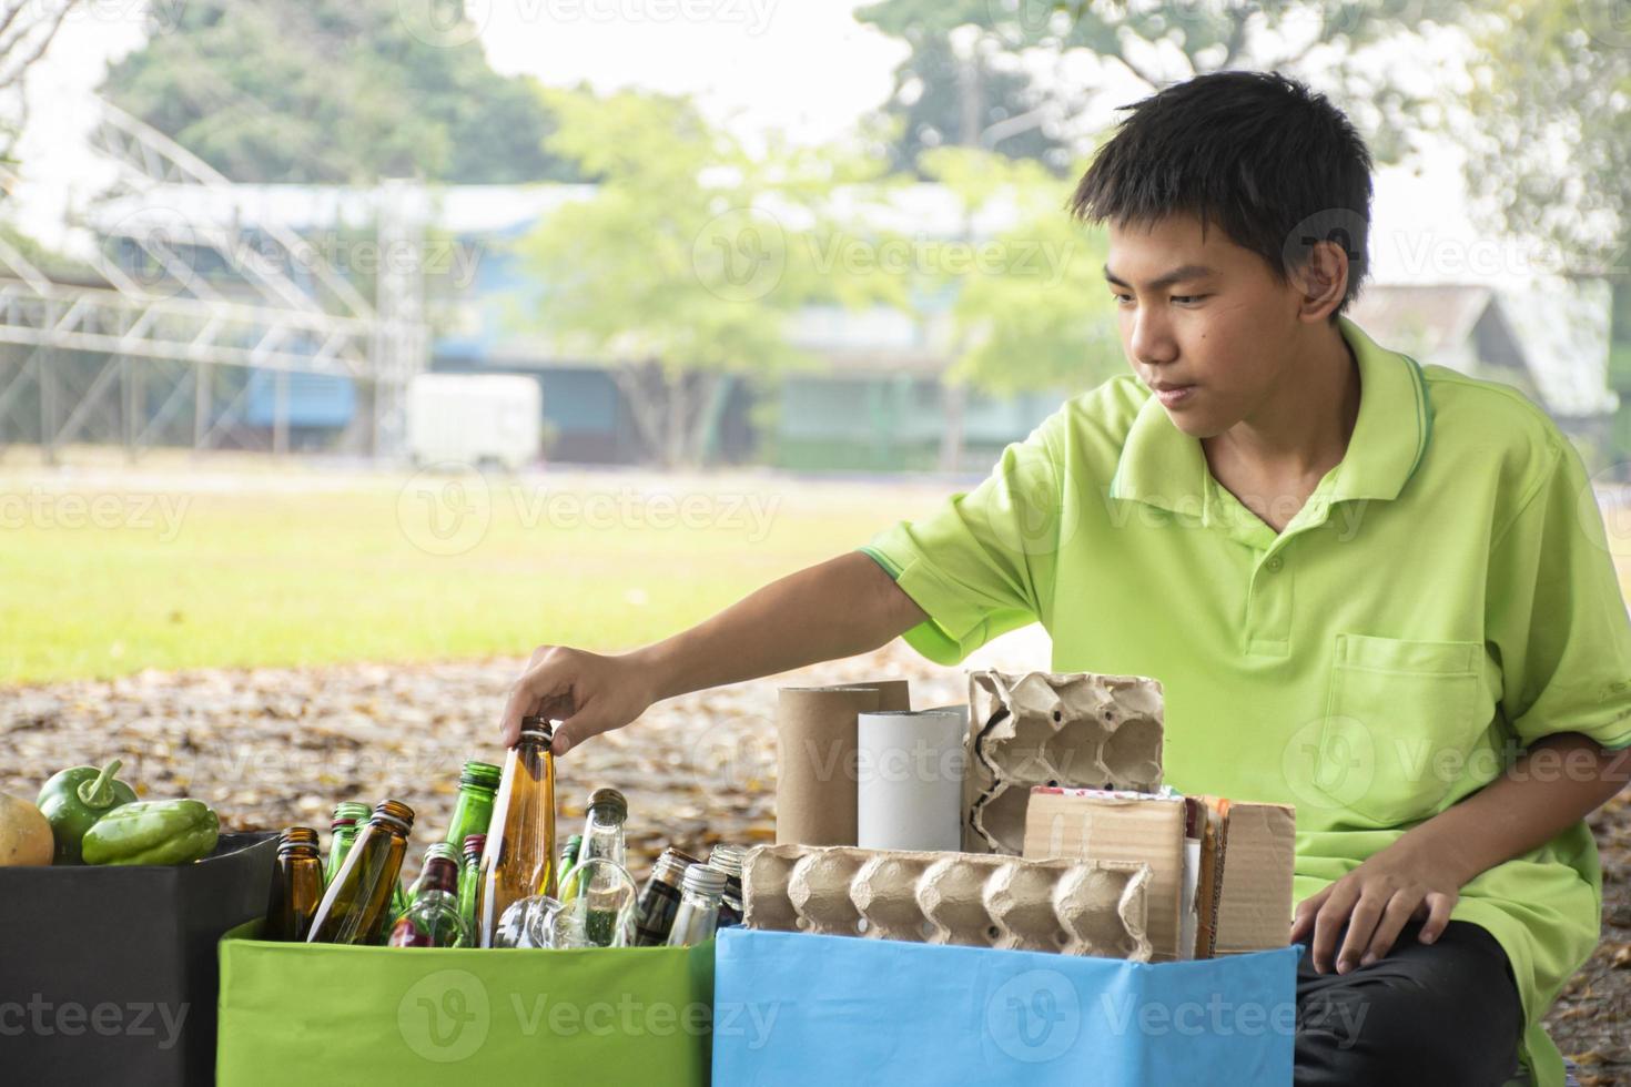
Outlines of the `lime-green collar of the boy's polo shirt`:
M1359 360L1359 419L1347 453L1326 479L1324 499L1396 499L1427 451L1425 380L1414 359L1378 347L1346 316L1337 326ZM1161 401L1148 396L1122 445L1111 497L1200 517L1207 481L1200 440L1173 425Z

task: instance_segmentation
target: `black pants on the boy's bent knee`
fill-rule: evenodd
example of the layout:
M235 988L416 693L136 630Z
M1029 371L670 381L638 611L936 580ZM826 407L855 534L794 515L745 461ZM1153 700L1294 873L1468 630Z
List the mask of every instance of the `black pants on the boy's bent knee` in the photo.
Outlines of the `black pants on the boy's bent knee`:
M1501 944L1468 921L1452 921L1434 944L1421 944L1419 929L1406 924L1385 957L1346 975L1334 965L1315 973L1303 940L1298 1084L1499 1087L1518 1074L1523 1004Z

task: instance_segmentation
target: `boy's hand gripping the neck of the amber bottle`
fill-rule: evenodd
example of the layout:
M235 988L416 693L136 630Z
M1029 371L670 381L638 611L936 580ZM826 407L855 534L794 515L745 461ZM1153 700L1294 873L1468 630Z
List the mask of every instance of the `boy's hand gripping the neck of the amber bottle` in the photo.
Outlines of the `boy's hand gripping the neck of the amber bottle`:
M540 645L511 688L499 728L504 745L520 740L520 719L545 714L563 719L550 750L564 755L589 737L621 728L654 701L649 670L631 657L602 657L564 645Z

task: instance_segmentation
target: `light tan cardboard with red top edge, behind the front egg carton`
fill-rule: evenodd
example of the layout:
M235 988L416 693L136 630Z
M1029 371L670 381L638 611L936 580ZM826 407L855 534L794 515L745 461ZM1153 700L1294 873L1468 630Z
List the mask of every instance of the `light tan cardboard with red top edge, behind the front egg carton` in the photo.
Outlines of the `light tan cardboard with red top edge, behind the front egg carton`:
M1184 947L1184 797L1106 789L1031 790L1024 856L1041 860L1143 860L1150 865L1151 962L1191 958Z

